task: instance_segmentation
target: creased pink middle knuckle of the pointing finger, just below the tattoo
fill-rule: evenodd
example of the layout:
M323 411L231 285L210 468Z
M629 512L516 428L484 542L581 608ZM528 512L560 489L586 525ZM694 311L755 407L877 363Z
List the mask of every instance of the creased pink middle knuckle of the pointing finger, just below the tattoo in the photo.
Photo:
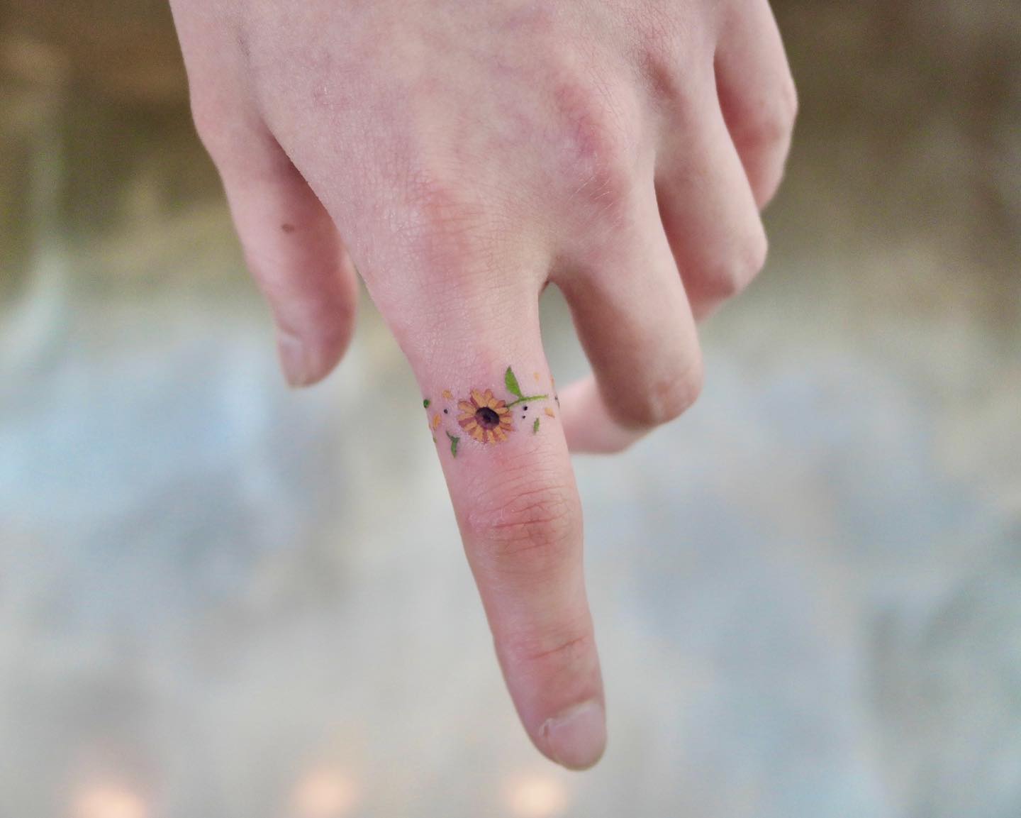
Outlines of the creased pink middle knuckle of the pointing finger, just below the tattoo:
M543 573L563 565L577 545L580 519L572 486L525 471L479 498L467 533L502 570Z

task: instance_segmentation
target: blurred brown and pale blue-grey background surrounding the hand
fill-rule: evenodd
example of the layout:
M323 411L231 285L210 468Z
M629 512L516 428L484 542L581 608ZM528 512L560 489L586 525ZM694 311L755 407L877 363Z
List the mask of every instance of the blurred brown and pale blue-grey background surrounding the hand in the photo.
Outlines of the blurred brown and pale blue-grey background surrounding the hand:
M371 303L283 386L162 0L0 0L2 818L1021 815L1021 7L775 6L768 269L697 405L577 461L577 775Z

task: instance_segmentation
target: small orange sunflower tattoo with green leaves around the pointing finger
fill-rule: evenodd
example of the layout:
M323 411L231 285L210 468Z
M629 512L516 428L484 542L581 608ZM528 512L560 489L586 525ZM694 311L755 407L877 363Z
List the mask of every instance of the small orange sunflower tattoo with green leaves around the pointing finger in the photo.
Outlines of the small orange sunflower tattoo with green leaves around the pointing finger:
M535 380L539 380L538 373L535 373ZM456 401L456 408L453 410L457 413L456 426L453 426L452 431L450 428L445 429L447 439L450 441L450 454L452 456L456 458L458 453L461 435L456 434L457 432L463 432L484 445L504 442L508 435L514 434L518 429L515 425L516 411L518 418L524 422L523 426L530 426L532 434L538 433L539 419L535 417L538 410L535 410L532 413L532 418L529 418L528 403L548 400L549 395L526 395L510 367L507 367L503 375L503 385L510 394L505 399L494 395L492 389L472 389L467 398ZM442 394L444 402L453 402L453 393L449 389L444 389ZM553 399L556 399L555 394ZM445 425L444 416L451 415L451 407L444 407L441 414L439 406L430 398L423 399L423 406L427 412L432 407L429 427L434 433L433 440L436 440L435 433L441 425ZM517 408L518 406L520 408ZM556 417L550 406L544 408L547 417Z

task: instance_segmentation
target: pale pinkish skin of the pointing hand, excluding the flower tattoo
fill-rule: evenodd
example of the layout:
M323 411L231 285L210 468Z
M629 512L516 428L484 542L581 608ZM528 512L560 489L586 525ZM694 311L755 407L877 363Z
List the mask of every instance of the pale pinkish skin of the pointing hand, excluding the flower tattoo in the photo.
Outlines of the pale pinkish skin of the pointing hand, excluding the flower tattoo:
M695 322L764 263L796 109L767 0L172 6L290 383L342 356L357 264L424 396L509 403L508 366L551 395L537 302L564 291L593 376L534 433L530 415L454 455L446 416L434 437L522 723L590 767L605 700L569 451L683 413Z

